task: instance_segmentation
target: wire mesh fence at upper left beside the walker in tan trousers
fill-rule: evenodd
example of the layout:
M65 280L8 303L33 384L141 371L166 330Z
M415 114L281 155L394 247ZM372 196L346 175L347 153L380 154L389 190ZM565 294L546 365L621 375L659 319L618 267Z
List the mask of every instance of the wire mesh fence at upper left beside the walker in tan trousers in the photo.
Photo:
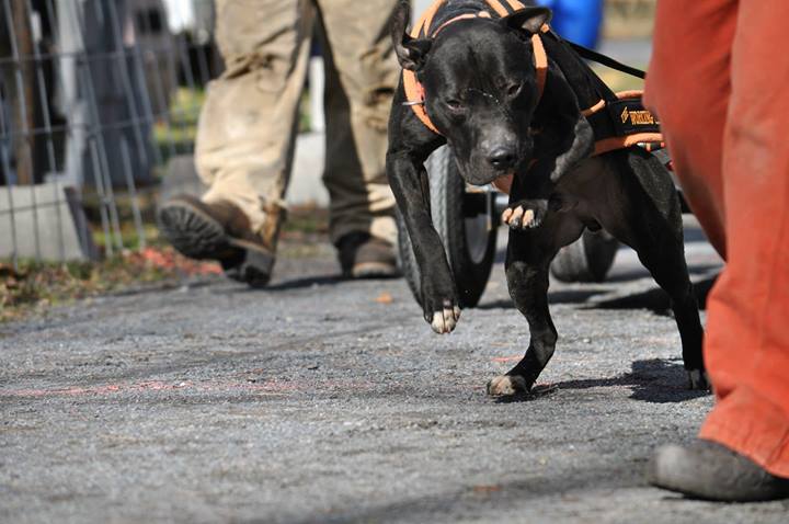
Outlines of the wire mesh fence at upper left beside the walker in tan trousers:
M145 247L217 71L210 0L0 0L0 260Z

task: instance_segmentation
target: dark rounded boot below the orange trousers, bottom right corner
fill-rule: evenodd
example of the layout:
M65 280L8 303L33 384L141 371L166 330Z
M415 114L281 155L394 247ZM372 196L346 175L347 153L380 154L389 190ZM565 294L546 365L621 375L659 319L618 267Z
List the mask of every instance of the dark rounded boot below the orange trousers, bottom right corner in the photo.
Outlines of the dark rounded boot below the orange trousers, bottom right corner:
M710 441L658 449L650 464L653 486L694 499L757 502L789 498L789 479L770 475L750 458Z

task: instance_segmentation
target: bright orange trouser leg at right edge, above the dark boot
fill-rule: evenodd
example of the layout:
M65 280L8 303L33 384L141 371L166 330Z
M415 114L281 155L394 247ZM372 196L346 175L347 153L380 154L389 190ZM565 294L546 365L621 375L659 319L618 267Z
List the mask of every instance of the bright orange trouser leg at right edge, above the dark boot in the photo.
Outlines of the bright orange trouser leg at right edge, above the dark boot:
M701 437L789 477L789 3L741 0L723 137L728 263L708 299Z

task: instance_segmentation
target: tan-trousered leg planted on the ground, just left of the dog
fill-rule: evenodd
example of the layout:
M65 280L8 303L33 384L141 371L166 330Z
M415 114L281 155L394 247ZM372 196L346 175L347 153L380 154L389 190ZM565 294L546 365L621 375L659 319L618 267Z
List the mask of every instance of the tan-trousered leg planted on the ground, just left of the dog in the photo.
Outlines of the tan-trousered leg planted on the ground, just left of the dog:
M389 110L400 70L388 29L397 1L317 3L327 64L323 181L331 197L331 239L341 249L346 272L354 260L343 260L344 240L355 236L380 240L377 255L367 254L371 254L370 261L378 258L388 272L393 272L393 251L387 244L393 244L397 238L395 197L385 162ZM371 273L386 270L375 270L375 264L370 267Z

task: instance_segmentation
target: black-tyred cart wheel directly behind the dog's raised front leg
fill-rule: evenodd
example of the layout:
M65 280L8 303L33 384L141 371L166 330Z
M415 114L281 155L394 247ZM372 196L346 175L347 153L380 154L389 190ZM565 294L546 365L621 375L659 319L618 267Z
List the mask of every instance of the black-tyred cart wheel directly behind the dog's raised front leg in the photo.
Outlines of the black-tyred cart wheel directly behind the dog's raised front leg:
M495 258L496 221L493 193L467 192L449 148L436 150L426 163L433 226L444 242L460 307L479 304ZM411 239L398 213L400 269L416 301L422 305L421 275Z

